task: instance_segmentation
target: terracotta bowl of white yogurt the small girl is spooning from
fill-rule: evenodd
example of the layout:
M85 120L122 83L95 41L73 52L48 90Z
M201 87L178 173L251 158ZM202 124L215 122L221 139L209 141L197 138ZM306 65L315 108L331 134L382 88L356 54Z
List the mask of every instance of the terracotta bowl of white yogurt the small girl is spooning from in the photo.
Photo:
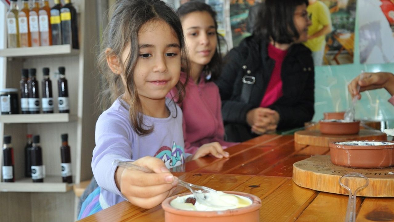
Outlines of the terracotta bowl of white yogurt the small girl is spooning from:
M253 194L223 191L225 196L235 196L226 199L226 203L233 203L231 199L238 199L241 203L238 206L223 207L215 209L210 206L201 206L198 202L189 201L193 198L191 193L178 194L169 197L162 202L165 222L258 222L261 199ZM191 202L191 203L190 203ZM231 209L232 208L232 209Z

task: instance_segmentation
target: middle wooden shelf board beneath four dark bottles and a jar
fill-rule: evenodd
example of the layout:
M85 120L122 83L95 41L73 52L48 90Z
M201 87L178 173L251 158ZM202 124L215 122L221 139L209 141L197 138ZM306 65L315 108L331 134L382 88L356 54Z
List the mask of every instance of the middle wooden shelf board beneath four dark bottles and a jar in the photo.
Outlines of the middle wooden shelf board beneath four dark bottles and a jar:
M72 122L75 120L77 120L77 116L69 113L0 115L0 122L2 123L50 123Z

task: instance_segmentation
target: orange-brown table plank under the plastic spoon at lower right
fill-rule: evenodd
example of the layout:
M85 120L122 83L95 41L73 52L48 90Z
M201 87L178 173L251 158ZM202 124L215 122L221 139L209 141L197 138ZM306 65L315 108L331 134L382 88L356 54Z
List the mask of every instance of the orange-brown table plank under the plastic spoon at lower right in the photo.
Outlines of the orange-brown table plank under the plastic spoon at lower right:
M347 195L320 192L301 216L297 218L297 222L344 221L348 207L348 198L349 196ZM363 199L357 197L356 212L360 208Z

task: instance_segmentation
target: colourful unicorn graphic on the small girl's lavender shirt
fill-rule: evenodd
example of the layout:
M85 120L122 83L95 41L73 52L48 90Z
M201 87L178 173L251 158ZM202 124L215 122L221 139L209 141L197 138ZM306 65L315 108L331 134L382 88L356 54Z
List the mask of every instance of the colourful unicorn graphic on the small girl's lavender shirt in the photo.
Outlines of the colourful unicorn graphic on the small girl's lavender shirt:
M173 142L172 148L167 146L160 147L154 156L162 159L167 168L180 166L185 163L184 148L178 146L175 142Z

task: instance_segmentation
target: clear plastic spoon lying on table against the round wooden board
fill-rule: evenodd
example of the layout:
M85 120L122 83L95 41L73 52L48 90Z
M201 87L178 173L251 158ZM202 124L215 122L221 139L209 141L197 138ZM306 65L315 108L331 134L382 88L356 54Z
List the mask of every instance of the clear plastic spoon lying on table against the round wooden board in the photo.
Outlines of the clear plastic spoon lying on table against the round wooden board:
M348 209L345 222L356 221L356 193L369 184L369 179L361 173L351 172L339 178L339 184L349 190ZM355 189L357 187L357 189Z

